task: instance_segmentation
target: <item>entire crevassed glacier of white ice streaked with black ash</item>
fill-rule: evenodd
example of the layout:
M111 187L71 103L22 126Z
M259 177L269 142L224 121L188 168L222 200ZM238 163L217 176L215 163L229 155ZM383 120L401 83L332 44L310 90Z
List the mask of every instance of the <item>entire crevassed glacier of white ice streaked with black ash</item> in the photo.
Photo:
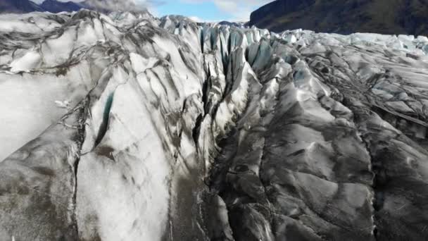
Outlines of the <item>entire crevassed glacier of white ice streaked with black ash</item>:
M0 240L424 240L428 39L0 16Z

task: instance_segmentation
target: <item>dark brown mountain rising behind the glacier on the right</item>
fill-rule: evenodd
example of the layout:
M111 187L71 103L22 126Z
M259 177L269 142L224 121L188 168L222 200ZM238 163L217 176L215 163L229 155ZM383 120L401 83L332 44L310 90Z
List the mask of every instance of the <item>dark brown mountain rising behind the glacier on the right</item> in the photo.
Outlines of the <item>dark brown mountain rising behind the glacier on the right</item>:
M275 32L428 35L427 0L277 0L251 13L250 25Z

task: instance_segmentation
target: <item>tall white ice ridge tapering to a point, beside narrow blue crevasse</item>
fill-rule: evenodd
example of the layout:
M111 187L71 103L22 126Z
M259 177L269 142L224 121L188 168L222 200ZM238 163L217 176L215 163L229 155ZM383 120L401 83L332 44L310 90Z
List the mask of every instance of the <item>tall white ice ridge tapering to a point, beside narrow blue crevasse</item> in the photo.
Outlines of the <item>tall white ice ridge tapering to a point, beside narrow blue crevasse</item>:
M108 132L80 160L77 210L84 235L98 227L103 240L160 240L165 232L170 164L135 87L130 81L115 90ZM115 161L97 154L103 147L115 149L104 153ZM99 224L84 222L92 212Z

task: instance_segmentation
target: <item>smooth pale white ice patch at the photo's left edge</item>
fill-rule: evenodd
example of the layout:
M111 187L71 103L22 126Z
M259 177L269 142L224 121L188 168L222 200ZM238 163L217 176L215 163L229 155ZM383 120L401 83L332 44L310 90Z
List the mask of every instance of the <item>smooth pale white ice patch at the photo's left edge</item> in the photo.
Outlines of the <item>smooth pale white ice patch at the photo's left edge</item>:
M68 112L56 101L80 102L89 83L82 85L75 77L0 73L0 161Z

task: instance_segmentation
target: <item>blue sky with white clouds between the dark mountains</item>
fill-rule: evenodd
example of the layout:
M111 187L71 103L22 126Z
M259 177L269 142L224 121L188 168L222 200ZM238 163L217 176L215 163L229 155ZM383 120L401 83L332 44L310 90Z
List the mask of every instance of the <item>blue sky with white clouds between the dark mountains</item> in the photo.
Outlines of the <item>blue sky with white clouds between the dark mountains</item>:
M40 3L43 0L33 0ZM69 1L69 0L60 0ZM73 0L81 1L81 0ZM113 0L108 0L113 1ZM115 0L121 1L121 0ZM177 14L197 21L248 21L250 13L273 0L123 0L147 6L158 17Z

